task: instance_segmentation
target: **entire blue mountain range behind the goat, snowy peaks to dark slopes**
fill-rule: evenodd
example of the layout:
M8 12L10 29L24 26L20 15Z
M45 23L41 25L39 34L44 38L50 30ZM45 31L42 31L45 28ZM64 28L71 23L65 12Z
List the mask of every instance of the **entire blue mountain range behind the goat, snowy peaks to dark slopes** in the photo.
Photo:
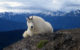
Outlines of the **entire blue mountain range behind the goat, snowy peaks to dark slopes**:
M0 13L0 49L22 39L22 34L27 29L26 18L32 15L40 16L50 22L54 31L80 28L80 10L70 12L46 10L38 13Z

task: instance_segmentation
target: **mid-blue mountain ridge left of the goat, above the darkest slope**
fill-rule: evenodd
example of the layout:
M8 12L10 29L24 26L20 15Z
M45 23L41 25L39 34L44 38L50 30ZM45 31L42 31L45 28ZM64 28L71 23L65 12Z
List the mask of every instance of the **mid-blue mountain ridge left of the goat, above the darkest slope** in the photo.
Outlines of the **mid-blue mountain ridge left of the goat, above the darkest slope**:
M14 21L0 18L0 32L10 31L15 29L20 30L20 29L26 29L26 28L27 28L26 23L14 22Z

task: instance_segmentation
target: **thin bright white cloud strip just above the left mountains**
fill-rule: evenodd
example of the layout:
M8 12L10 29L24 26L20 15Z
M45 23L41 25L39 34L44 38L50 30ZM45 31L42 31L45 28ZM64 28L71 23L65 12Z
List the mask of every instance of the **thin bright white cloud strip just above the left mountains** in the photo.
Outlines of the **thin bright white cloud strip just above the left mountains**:
M42 12L40 10L25 10L25 9L0 9L0 12L15 12L15 13L26 13L26 12L29 12L29 13L38 13L38 12Z

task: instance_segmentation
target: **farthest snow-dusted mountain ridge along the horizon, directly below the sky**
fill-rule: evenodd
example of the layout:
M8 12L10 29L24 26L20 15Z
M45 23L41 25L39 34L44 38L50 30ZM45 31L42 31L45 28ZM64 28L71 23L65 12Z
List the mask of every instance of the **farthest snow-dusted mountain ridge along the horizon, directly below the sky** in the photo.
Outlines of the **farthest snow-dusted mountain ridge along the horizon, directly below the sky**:
M29 17L31 15L37 15L41 17L62 17L62 16L80 16L80 10L76 11L70 11L70 12L64 12L64 11L49 11L49 10L44 10L41 12L37 13L14 13L14 12L4 12L0 13L0 18L4 18L10 21L16 21L16 22L26 22L26 17Z

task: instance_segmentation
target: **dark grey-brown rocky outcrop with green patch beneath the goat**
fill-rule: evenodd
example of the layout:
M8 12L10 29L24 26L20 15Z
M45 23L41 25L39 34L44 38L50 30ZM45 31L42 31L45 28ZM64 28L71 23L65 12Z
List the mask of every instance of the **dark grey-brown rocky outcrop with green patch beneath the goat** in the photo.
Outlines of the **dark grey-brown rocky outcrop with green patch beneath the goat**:
M3 50L80 50L80 29L34 35Z

